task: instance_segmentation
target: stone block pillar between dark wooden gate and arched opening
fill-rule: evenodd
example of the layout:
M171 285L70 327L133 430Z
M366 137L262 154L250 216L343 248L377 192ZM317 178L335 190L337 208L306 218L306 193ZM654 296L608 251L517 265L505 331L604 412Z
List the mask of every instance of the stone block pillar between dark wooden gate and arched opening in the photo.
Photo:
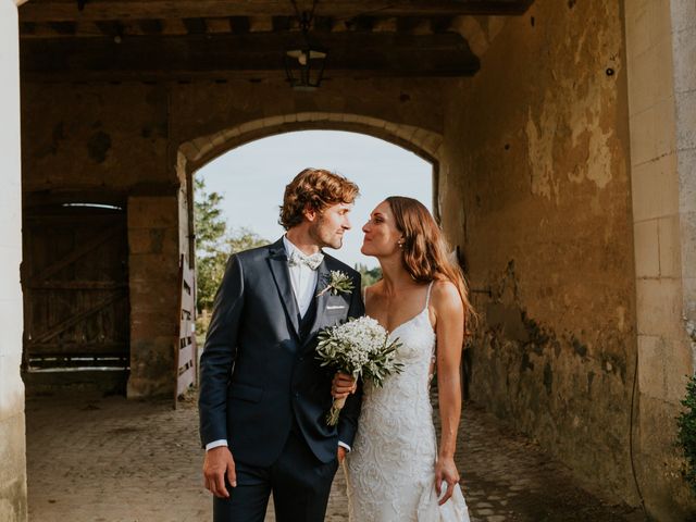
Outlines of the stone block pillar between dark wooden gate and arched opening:
M174 396L178 333L178 198L128 198L128 398Z

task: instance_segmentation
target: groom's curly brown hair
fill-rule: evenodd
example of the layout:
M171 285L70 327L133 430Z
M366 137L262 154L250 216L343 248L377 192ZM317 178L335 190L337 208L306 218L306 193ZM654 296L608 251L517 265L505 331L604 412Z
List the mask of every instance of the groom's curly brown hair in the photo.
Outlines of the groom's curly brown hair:
M359 194L358 185L339 174L304 169L285 187L278 223L287 231L302 222L306 210L321 214L327 207L352 203Z

